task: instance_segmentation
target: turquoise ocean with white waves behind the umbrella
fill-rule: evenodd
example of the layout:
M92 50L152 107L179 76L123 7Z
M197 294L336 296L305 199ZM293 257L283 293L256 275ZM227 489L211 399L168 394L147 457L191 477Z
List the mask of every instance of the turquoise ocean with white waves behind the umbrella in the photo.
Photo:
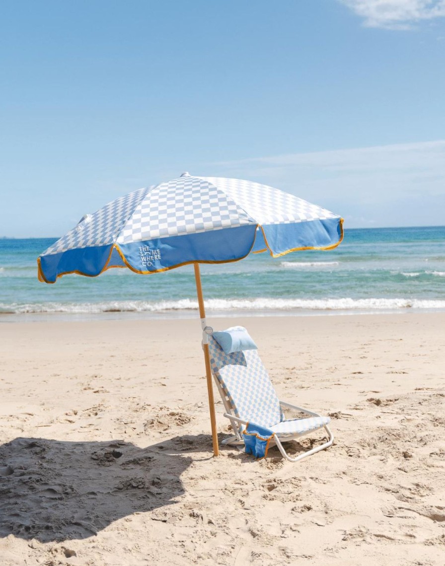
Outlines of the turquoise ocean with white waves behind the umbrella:
M0 239L0 320L66 316L196 316L194 271L37 280L36 259L57 238ZM335 250L202 265L207 314L352 314L445 310L445 227L345 229ZM109 315L108 315L109 316Z

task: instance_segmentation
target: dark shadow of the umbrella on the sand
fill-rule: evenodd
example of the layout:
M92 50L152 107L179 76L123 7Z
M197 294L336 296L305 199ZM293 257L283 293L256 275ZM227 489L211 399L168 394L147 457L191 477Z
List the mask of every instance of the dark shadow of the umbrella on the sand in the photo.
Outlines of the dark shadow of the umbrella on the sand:
M0 446L0 537L84 539L119 518L174 504L185 492L181 474L208 447L207 435L147 448L16 438Z

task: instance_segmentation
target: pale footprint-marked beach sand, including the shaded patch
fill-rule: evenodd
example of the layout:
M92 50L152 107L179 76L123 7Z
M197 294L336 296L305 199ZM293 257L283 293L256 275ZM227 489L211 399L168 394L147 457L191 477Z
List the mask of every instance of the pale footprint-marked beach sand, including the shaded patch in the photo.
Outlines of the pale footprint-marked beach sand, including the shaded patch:
M445 314L209 319L331 415L295 464L212 457L198 320L23 319L0 323L2 566L445 563Z

